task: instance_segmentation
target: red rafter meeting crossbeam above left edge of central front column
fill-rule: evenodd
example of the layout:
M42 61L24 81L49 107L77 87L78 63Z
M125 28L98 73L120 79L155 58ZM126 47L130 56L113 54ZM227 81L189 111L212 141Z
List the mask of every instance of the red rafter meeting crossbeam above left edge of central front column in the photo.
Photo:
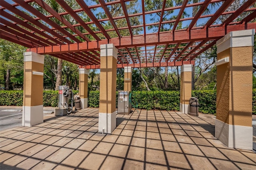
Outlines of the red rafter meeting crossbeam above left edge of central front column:
M76 21L78 21L78 23L80 23L82 25L82 27L84 27L84 29L86 29L86 31L88 31L88 33L90 33L90 35L92 35L97 41L100 41L100 38L92 31L92 29L90 29L90 27L88 27L88 25L82 20L82 18L80 18L76 12L74 12L74 10L72 10L72 8L70 6L68 6L68 4L63 1L63 0L56 0L60 6L62 6Z

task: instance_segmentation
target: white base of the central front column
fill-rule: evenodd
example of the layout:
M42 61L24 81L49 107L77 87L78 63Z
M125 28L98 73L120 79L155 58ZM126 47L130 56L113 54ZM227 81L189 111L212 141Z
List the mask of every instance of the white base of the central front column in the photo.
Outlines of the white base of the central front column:
M113 113L99 113L99 133L111 134L116 129L116 111Z

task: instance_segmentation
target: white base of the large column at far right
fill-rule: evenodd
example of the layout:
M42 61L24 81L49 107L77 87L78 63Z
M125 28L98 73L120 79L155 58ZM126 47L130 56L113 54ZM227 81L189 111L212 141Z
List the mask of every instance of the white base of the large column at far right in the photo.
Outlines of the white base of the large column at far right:
M215 137L231 148L252 150L252 127L215 120Z

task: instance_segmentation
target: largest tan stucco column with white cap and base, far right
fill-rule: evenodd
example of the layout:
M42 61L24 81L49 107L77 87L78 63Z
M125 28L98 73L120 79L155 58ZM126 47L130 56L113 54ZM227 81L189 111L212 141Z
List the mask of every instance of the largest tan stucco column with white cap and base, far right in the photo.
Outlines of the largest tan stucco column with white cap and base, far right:
M217 41L215 137L252 150L252 55L255 30L232 31Z

